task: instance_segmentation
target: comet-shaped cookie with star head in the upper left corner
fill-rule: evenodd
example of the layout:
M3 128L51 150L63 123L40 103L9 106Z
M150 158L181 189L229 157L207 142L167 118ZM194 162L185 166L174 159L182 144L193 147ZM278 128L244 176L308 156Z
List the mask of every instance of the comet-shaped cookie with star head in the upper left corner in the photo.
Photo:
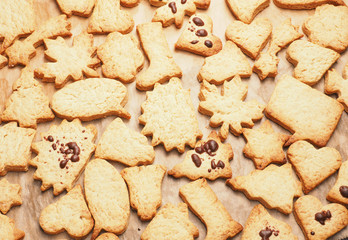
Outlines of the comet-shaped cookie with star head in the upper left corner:
M31 58L36 55L36 49L46 38L52 39L58 36L71 36L71 24L65 15L50 18L40 25L29 37L23 41L17 40L13 45L6 49L9 58L9 67L18 64L28 65Z

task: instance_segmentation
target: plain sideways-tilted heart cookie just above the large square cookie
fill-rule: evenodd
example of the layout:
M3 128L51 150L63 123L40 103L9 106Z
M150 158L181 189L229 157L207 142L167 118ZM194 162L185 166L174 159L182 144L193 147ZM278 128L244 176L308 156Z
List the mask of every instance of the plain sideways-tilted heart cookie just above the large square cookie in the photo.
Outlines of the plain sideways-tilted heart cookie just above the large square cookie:
M294 77L310 86L319 82L340 55L334 50L305 40L296 40L286 50L286 59L295 66Z

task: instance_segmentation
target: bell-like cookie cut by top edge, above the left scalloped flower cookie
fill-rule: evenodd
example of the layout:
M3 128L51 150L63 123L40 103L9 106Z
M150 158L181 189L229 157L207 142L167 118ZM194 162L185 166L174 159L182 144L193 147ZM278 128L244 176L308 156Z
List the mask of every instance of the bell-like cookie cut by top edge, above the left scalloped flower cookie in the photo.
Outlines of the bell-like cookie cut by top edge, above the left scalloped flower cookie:
M96 1L87 32L104 34L117 31L125 34L132 31L133 17L120 9L120 0Z

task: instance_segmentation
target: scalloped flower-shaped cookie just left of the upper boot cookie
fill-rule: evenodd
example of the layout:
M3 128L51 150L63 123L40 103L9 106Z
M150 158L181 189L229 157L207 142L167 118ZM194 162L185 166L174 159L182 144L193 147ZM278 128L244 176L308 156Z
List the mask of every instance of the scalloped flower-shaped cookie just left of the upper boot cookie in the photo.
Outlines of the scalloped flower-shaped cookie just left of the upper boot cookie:
M97 54L103 63L103 75L123 83L133 82L145 61L136 37L118 32L107 36L105 43L98 47Z

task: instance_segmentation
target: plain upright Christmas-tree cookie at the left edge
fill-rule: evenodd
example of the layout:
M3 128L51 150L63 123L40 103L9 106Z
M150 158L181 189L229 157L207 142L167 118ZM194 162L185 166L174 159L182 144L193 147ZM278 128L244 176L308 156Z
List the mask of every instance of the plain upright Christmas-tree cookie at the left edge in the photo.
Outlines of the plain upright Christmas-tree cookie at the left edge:
M54 119L49 99L41 84L34 78L32 70L24 68L12 89L12 95L6 101L1 120L17 121L21 127L36 128L37 123Z

